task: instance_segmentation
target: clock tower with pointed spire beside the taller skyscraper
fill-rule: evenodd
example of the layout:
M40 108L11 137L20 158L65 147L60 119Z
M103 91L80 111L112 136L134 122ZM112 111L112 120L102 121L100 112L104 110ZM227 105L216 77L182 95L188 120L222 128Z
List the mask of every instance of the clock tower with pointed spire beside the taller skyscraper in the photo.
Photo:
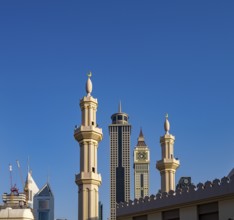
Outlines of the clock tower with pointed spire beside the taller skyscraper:
M150 152L145 138L140 131L137 145L134 149L134 194L135 198L149 196L149 164Z

